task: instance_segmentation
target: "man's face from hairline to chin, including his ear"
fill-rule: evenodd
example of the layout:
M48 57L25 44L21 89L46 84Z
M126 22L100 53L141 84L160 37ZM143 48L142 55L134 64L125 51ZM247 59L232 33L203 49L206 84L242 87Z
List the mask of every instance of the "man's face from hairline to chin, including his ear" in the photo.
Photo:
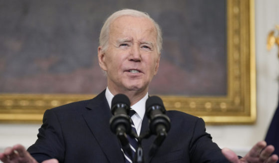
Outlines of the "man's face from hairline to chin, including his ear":
M110 25L108 49L99 47L98 59L112 92L147 92L160 61L154 24L143 17L118 17Z

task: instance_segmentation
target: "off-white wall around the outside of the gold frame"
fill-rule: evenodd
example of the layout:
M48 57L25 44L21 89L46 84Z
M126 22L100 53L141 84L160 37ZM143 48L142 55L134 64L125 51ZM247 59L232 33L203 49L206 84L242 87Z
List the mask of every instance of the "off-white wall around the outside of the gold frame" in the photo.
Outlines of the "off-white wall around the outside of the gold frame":
M277 48L266 50L268 32L279 24L279 0L255 0L257 110L255 125L208 126L213 140L222 147L246 153L257 141L263 140L278 102L279 59ZM26 147L36 140L40 125L0 124L0 151L20 143Z

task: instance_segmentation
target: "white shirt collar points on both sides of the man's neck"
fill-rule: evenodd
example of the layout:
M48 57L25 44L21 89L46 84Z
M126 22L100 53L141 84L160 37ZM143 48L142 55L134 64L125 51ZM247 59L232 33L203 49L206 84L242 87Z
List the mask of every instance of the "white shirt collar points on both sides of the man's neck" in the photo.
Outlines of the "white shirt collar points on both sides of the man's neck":
M106 99L109 105L109 108L111 109L111 101L112 98L114 97L113 94L109 91L108 87L106 88ZM137 103L135 103L131 108L136 111L136 113L139 115L140 119L143 120L144 114L145 114L145 103L146 100L148 99L148 93Z

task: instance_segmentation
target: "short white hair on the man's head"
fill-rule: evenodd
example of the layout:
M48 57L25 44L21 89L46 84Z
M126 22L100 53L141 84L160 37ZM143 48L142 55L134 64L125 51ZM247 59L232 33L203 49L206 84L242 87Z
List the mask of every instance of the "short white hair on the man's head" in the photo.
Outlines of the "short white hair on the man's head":
M162 43L163 43L163 38L162 38L162 31L160 29L160 26L158 25L158 23L156 21L154 21L148 13L146 12L142 12L142 11L138 11L135 9L122 9L119 11L114 12L113 14L111 14L105 21L101 32L100 32L100 38L99 38L99 44L100 46L103 47L103 51L106 51L108 48L108 40L109 40L109 27L110 24L118 17L120 16L124 16L124 15L128 15L128 16L134 16L134 17L145 17L148 18L149 20L151 20L156 28L156 34L157 34L157 50L160 53L161 49L162 49Z

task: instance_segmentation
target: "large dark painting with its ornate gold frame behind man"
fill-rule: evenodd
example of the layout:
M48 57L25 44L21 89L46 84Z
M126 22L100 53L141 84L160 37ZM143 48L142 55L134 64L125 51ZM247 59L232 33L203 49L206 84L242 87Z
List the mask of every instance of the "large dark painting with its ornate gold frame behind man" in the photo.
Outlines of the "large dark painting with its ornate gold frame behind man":
M104 90L98 36L121 8L145 11L162 28L149 94L167 110L207 124L256 121L253 0L11 0L0 7L0 122L41 122L46 109Z

